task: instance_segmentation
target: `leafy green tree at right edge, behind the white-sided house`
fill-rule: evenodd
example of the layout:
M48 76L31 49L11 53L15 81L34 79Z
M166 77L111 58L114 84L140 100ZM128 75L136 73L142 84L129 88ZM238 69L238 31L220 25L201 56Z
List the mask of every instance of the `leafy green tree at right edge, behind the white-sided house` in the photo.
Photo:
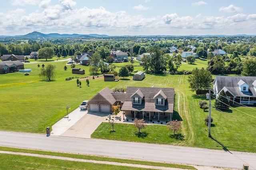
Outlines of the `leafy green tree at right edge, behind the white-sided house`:
M256 59L247 59L243 63L243 76L256 76Z

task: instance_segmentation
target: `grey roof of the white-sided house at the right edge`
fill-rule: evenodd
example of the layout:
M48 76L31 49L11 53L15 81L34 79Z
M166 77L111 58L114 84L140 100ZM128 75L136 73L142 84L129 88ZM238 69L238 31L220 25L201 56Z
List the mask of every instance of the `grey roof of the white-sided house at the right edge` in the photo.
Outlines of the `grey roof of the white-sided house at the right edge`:
M225 87L229 90L234 96L244 96L244 97L256 97L256 91L253 87L255 84L256 77L254 76L216 76L214 83L217 84L218 93ZM241 92L239 89L239 84L248 84L249 92ZM241 84L241 85L242 85Z

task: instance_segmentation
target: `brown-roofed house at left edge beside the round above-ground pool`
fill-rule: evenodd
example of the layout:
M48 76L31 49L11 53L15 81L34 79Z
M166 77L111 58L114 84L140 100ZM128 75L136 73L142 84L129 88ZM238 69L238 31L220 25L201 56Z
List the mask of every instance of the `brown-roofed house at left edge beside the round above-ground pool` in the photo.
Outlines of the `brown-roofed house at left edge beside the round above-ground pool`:
M0 62L0 74L16 72L18 69L23 69L24 64L20 61L2 61Z

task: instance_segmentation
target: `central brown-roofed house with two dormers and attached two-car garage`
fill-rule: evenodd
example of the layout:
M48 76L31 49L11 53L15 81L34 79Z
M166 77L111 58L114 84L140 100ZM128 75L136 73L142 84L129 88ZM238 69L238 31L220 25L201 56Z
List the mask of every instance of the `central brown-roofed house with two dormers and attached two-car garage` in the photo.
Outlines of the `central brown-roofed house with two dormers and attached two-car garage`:
M88 101L88 111L112 112L112 106L122 104L126 116L139 119L172 120L174 88L127 87L126 93L112 92L108 87Z

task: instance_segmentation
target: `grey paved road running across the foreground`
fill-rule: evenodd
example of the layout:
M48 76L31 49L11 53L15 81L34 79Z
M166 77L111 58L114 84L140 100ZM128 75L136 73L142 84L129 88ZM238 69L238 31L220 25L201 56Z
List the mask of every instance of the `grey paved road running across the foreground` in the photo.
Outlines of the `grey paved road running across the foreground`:
M92 154L136 160L256 170L256 154L169 145L78 139L0 131L0 146Z

